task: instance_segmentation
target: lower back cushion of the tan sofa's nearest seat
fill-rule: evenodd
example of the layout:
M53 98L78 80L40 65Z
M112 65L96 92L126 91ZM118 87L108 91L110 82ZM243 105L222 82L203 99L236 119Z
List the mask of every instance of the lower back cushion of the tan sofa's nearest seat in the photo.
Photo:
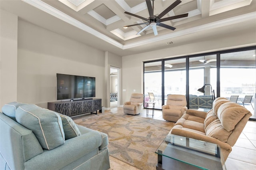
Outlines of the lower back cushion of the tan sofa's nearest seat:
M210 136L216 138L222 142L226 142L228 140L229 135L232 131L225 130L219 119L216 119L205 130L206 136Z

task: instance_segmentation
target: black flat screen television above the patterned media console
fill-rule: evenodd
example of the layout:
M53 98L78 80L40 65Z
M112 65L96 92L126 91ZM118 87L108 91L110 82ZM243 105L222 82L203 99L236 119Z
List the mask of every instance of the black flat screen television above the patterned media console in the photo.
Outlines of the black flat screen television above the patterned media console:
M57 73L57 100L95 97L95 77Z

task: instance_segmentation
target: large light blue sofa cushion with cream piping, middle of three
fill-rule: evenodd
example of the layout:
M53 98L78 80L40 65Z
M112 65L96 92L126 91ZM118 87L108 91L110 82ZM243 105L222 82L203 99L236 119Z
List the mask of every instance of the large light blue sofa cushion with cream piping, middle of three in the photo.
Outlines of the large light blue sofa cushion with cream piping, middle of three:
M16 110L16 120L33 131L44 149L51 150L65 142L60 115L54 111L36 105L22 105Z

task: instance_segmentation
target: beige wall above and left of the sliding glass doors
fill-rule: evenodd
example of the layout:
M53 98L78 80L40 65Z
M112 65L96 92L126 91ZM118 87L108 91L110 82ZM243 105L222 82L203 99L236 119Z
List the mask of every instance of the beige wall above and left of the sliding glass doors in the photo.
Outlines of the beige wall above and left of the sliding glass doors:
M129 101L131 93L144 93L143 87L143 61L172 58L197 53L220 51L223 49L234 49L238 47L248 47L256 45L255 30L236 32L221 38L212 36L207 40L200 40L177 45L174 47L127 55L122 57L122 101ZM124 91L125 90L125 91Z

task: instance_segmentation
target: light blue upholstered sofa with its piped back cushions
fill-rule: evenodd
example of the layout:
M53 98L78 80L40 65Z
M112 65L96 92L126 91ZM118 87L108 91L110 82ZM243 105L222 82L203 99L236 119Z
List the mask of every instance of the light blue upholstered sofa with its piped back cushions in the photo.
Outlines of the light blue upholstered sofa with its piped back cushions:
M12 102L4 105L2 112L0 170L110 168L107 134L76 125L71 118L36 105ZM67 131L70 124L72 132Z

